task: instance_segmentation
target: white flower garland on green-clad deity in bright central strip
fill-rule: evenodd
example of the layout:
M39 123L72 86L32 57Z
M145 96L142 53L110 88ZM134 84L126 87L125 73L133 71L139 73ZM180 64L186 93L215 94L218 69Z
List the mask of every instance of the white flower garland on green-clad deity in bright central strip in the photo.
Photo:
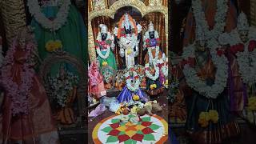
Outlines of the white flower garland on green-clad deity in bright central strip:
M97 40L98 40L98 42L102 42L102 35L100 33L98 33ZM110 32L107 33L107 38L106 38L105 41L108 41L108 40L110 40L113 43L113 38L112 38ZM107 50L106 50L105 55L102 54L102 51L99 48L96 48L96 52L97 52L98 56L102 59L109 58L109 56L110 56L110 47L111 46L107 46ZM114 45L112 45L112 47L114 47Z

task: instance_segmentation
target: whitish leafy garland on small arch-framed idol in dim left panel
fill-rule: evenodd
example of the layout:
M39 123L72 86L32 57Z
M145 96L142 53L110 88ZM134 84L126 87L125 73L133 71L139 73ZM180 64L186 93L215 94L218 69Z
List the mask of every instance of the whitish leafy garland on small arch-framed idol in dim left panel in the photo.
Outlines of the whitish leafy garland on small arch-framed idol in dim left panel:
M57 74L54 78L49 78L51 95L57 100L59 106L66 106L70 91L74 85L78 84L78 77L70 72L67 72L66 79L62 81L60 75Z

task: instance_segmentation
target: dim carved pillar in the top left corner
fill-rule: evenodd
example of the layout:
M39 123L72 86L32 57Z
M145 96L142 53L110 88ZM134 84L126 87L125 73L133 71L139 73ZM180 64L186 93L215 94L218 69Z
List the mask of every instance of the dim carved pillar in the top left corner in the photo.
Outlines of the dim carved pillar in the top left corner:
M0 0L2 20L5 26L6 39L10 46L18 31L26 26L26 13L23 0Z

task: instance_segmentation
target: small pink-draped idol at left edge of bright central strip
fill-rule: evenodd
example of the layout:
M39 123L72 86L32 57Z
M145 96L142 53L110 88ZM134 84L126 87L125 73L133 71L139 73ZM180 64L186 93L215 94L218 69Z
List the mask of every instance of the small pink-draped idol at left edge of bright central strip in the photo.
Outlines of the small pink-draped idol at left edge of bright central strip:
M90 64L89 68L89 93L94 96L95 99L101 98L106 95L104 87L104 81L102 74L98 70L98 61L94 61Z

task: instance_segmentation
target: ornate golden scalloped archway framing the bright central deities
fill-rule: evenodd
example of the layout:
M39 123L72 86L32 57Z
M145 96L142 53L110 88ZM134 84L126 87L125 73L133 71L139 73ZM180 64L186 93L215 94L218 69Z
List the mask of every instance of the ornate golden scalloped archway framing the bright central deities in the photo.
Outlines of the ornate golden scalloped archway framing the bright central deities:
M146 14L150 14L153 12L162 13L165 17L165 34L166 34L166 49L168 51L168 8L167 6L163 6L162 1L154 0L149 1L149 5L142 1L134 1L134 0L118 0L114 2L111 6L107 6L107 1L98 1L97 5L93 1L90 1L91 11L89 12L88 17L88 50L90 54L90 61L96 58L96 51L94 46L94 34L91 25L91 21L94 18L105 16L114 19L114 15L117 10L122 7L131 6L136 8L144 17Z

